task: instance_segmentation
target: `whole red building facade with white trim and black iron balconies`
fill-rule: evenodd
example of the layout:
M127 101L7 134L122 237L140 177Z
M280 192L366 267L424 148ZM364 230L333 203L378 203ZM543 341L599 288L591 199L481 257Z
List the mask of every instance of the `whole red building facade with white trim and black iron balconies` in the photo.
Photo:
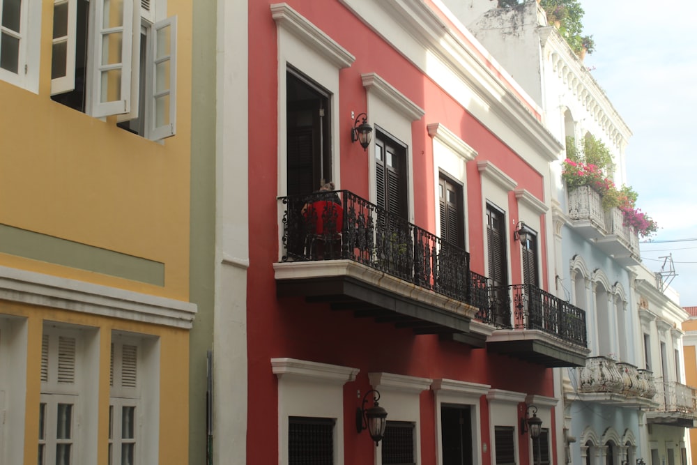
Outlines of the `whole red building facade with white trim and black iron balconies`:
M559 462L551 368L588 351L550 290L561 146L539 109L437 2L249 19L247 463L533 463L532 404ZM371 389L378 447L356 427Z

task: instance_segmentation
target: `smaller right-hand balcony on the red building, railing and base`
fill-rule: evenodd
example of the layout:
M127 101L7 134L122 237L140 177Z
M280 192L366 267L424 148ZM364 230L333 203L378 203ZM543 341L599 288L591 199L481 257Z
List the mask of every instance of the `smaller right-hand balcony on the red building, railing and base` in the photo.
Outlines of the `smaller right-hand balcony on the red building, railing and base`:
M531 284L491 289L487 349L547 367L585 363L585 312Z

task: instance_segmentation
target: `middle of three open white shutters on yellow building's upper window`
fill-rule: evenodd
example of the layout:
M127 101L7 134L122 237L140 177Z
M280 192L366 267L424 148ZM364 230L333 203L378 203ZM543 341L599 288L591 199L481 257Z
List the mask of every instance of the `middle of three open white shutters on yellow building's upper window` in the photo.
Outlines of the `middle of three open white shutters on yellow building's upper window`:
M95 0L92 116L130 112L133 0ZM137 39L140 36L138 34Z

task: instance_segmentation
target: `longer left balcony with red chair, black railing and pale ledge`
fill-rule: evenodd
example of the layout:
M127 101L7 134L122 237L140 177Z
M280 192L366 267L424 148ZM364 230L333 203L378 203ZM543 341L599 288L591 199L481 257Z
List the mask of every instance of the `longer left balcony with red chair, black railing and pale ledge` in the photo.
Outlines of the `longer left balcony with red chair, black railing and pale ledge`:
M484 346L491 329L470 330L481 291L467 252L348 191L279 200L277 296Z

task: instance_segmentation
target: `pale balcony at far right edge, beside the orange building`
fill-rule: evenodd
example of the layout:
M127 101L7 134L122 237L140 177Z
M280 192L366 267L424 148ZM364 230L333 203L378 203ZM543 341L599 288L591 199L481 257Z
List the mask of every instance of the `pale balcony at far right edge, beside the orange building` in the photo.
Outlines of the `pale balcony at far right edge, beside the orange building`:
M675 381L656 381L657 406L646 413L646 422L683 428L697 427L697 390Z

